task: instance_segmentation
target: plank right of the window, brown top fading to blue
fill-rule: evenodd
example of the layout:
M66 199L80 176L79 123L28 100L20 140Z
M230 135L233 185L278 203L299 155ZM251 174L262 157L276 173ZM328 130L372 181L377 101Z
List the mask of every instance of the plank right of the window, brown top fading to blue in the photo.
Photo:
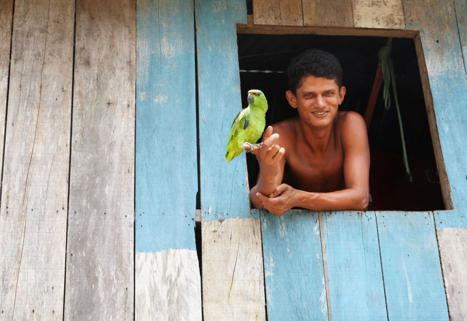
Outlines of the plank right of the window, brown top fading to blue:
M467 208L467 80L453 1L403 0L406 28L420 31L454 209ZM427 91L425 90L425 93ZM426 99L428 113L432 112ZM436 133L435 133L436 135ZM442 169L439 168L439 172Z

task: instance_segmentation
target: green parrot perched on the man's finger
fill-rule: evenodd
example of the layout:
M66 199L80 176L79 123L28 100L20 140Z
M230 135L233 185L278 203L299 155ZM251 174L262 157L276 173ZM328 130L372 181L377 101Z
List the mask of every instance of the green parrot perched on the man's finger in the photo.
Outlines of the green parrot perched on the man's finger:
M248 91L247 101L248 107L242 109L233 119L226 150L227 163L243 152L244 144L248 144L250 150L253 146L261 147L262 145L262 143L255 143L260 139L266 126L268 102L262 91L256 89Z

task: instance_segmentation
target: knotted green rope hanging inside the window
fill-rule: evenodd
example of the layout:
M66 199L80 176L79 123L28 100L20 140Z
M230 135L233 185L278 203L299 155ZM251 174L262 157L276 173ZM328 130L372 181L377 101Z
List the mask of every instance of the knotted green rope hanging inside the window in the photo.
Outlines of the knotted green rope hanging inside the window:
M397 101L396 78L394 77L394 67L392 64L392 60L390 58L391 49L392 49L391 42L392 42L392 38L389 37L388 43L386 44L386 46L382 47L380 51L378 52L378 58L380 60L379 65L381 65L382 79L384 82L382 98L384 100L384 108L386 110L389 110L389 108L391 107L389 84L392 84L392 90L394 92L394 100L396 101L397 118L399 119L399 129L401 131L402 154L404 158L405 171L407 172L407 176L409 176L409 181L412 182L413 181L412 174L410 174L409 161L407 160L407 151L405 149L404 131L402 129L401 113L399 112L399 102Z

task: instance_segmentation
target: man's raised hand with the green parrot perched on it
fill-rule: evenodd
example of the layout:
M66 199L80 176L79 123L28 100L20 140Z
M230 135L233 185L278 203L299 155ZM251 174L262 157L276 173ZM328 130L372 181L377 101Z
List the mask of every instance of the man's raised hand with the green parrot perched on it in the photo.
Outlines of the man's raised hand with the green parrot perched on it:
M262 175L268 178L275 178L279 174L279 162L285 154L285 149L274 142L279 138L279 134L272 133L272 126L268 126L264 132L262 139L262 147L253 146L252 154L256 155L256 159L260 164ZM245 150L250 150L250 146L243 145Z

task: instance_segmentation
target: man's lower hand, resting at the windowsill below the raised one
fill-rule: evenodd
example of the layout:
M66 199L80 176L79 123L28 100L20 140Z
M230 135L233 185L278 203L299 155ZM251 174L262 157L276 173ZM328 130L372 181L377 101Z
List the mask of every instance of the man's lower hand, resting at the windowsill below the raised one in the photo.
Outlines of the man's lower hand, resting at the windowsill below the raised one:
M282 216L292 207L297 206L299 199L299 191L292 188L290 185L281 184L276 187L274 192L268 196L256 193L256 196L261 200L265 209L269 212Z

